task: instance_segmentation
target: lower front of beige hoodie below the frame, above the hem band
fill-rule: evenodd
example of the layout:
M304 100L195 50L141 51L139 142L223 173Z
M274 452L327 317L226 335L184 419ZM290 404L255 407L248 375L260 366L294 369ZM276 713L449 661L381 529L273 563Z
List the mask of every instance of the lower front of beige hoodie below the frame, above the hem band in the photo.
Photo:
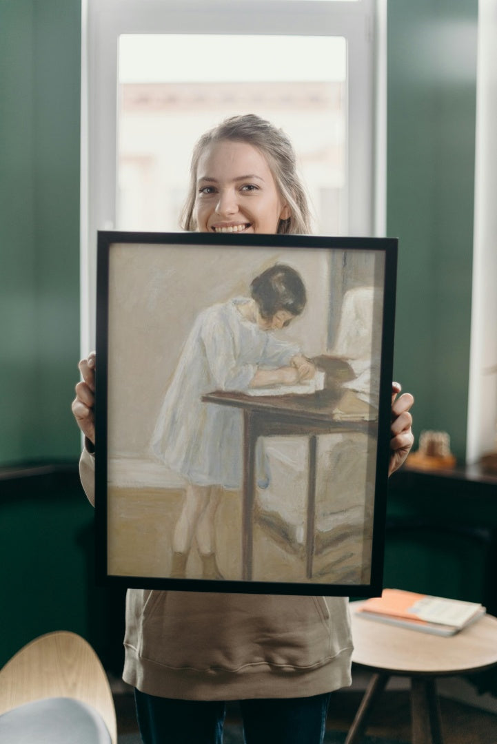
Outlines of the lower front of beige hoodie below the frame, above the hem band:
M143 658L167 667L309 669L350 645L344 597L330 603L324 597L132 591L141 597L133 616L137 628L128 637L135 635Z

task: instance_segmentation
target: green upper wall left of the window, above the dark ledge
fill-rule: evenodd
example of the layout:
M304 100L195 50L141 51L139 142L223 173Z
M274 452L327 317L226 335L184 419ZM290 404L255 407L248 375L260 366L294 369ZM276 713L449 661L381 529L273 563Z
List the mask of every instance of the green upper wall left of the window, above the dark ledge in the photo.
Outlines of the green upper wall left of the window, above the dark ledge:
M80 0L0 0L0 465L76 458Z

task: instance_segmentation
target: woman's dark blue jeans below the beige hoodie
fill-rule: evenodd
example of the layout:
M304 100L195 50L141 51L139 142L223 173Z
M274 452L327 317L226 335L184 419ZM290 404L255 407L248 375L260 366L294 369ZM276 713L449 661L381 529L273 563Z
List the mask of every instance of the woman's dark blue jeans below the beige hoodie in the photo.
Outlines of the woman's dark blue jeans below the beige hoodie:
M221 744L223 701L173 700L135 690L144 744ZM240 700L246 744L322 744L330 693Z

